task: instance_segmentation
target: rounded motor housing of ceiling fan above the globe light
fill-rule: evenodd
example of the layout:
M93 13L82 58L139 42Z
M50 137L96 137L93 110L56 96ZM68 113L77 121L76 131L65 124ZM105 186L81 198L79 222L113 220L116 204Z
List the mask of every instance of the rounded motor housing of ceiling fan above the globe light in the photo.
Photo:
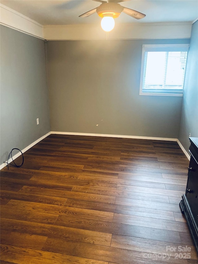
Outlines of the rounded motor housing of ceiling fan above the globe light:
M123 9L123 6L116 3L104 3L97 7L96 12L100 17L111 16L117 18Z

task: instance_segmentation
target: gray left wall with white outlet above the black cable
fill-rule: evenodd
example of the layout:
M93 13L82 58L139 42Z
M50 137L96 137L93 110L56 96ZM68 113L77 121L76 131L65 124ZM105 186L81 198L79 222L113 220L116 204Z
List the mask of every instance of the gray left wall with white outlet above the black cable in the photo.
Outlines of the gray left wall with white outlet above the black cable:
M1 26L1 158L50 131L44 41ZM36 119L39 118L39 125Z

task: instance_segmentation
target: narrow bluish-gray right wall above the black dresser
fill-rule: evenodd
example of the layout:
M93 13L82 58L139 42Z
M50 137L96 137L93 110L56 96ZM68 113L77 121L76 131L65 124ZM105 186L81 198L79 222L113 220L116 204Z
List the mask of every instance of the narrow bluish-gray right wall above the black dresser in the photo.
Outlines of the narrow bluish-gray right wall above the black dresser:
M179 129L179 141L188 151L189 133L198 137L198 21L192 25L190 48L187 59L183 106Z

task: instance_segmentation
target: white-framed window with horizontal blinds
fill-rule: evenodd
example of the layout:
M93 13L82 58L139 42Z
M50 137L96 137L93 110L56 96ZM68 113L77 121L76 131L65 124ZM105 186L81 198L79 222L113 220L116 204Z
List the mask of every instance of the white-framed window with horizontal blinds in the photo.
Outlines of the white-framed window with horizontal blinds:
M183 96L189 44L143 45L140 95Z

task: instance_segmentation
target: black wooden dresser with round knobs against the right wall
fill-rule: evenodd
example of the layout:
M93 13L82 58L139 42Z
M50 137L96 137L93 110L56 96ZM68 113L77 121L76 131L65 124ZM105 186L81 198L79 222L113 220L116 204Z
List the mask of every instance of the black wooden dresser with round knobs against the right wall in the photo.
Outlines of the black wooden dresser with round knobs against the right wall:
M198 251L198 138L190 137L189 139L191 158L188 167L188 180L186 193L182 196L179 206L182 213L185 214Z

